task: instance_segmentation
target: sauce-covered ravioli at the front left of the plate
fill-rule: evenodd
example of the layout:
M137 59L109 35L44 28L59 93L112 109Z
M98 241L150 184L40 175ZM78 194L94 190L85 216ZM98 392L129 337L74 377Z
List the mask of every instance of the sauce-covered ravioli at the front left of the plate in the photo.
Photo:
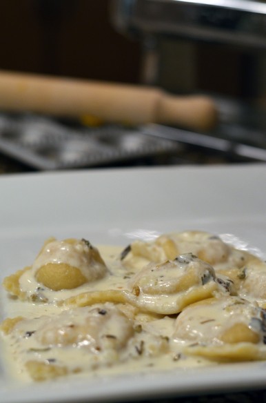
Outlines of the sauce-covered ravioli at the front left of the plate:
M141 335L134 321L112 303L54 316L15 317L3 321L1 330L17 351L17 364L35 381L112 367L129 357L156 357L168 350L165 337Z

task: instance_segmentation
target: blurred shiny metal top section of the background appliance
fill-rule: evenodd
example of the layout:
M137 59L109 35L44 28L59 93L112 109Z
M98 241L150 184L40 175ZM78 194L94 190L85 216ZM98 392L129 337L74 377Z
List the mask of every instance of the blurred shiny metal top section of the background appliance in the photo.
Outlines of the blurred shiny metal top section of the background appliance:
M134 36L178 35L266 48L266 3L252 0L113 0L111 18Z

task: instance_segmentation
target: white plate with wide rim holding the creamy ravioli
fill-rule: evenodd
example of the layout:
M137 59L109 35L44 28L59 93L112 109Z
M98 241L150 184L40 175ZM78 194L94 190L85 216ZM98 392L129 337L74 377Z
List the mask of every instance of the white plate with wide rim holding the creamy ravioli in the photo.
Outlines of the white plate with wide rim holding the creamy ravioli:
M198 229L266 252L266 165L128 168L0 177L0 277L32 263L46 237L126 246ZM1 311L3 316L3 310ZM0 372L0 401L118 402L261 388L266 362L170 373L19 384Z

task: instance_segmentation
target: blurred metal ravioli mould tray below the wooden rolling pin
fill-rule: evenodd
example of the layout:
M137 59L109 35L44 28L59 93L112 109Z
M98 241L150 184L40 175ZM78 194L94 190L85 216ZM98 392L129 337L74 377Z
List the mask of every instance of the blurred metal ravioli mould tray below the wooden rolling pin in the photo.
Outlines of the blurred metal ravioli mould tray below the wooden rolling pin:
M0 152L39 170L108 166L180 148L136 128L71 127L39 115L0 115Z

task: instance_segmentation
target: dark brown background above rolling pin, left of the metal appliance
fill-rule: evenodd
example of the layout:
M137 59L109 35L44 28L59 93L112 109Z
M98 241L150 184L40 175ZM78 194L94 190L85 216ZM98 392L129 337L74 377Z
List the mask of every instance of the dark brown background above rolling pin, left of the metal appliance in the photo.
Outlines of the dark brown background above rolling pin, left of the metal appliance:
M110 24L108 0L2 0L0 69L139 81L141 44Z

